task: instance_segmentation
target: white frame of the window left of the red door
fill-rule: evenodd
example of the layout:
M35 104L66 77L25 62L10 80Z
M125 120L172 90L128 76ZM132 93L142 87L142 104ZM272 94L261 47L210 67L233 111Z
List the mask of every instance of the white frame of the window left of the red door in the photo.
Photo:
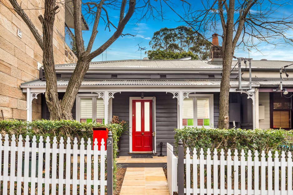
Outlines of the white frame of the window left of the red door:
M76 96L76 120L80 121L80 99L81 98L92 98L92 122L96 121L97 117L97 102L96 102L96 98L99 98L98 94L77 94ZM101 100L103 100L102 98L99 98ZM105 104L104 104L105 106ZM105 116L104 116L105 119ZM112 118L111 118L112 119Z

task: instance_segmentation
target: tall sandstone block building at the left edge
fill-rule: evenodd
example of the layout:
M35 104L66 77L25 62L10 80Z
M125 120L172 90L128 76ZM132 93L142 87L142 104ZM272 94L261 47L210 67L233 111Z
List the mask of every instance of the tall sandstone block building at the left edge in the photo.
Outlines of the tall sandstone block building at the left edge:
M77 62L71 44L73 36L70 28L74 27L71 4L71 1L66 1L65 6L60 6L56 14L53 32L56 64ZM42 24L38 16L44 12L39 9L44 7L44 1L22 0L21 6L41 33ZM88 30L86 23L83 23L83 30ZM20 85L39 78L42 49L9 1L1 0L0 3L0 32L0 110L5 119L41 119L41 98L34 99L30 102L31 108L27 108L27 95L22 93ZM30 119L27 118L27 109L31 112ZM0 118L2 119L1 112Z

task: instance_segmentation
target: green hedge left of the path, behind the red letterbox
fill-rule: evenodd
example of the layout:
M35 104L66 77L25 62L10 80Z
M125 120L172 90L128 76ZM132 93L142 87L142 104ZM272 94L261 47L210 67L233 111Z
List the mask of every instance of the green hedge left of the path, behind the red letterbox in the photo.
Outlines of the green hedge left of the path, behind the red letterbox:
M61 137L70 137L72 140L77 137L78 140L81 138L86 140L90 138L92 140L92 128L94 127L106 127L113 134L113 175L114 175L114 188L116 183L115 173L116 173L116 156L117 156L117 142L119 137L117 137L116 132L122 131L122 126L119 124L100 124L100 123L80 123L76 120L35 120L32 122L25 122L21 120L0 120L0 132L2 138L4 134L8 134L11 139L12 134L16 137L22 135L25 138L29 135L30 139L35 135L37 141L40 136L46 139L47 136L50 137L51 141L53 137L56 136L57 140ZM106 143L106 140L105 140Z

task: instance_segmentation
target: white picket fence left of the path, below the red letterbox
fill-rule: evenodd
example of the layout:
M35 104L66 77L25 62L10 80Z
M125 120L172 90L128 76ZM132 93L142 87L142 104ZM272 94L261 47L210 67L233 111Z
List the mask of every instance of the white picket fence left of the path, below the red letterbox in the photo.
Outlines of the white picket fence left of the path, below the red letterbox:
M1 135L0 139L2 139ZM90 139L88 139L85 149L83 138L80 141L79 149L76 138L73 141L73 149L70 138L67 138L66 148L64 148L63 138L57 144L57 139L54 137L53 144L50 144L51 140L47 137L45 147L42 136L40 136L39 144L36 143L37 139L33 136L31 147L28 136L25 139L25 147L23 147L21 135L18 138L17 146L15 139L13 135L10 142L6 135L4 145L2 142L0 143L0 162L3 162L0 166L0 182L3 195L7 195L7 192L10 195L55 195L56 191L57 194L62 195L63 190L66 195L83 195L84 193L91 194L92 186L94 194L98 194L98 191L101 195L105 194L107 185L105 157L107 153L103 139L99 143L101 151L98 151L97 139L94 142L94 150ZM1 159L3 153L4 159ZM64 155L66 155L65 158ZM22 167L23 156L24 166ZM29 166L30 163L31 166ZM98 178L99 174L100 178ZM79 190L77 191L77 189Z

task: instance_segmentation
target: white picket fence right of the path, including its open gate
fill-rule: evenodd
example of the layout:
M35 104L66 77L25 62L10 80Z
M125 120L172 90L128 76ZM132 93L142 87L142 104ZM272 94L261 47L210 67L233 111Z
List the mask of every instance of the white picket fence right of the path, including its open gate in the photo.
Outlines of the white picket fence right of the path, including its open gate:
M252 154L249 150L246 154L242 150L240 156L238 156L237 149L234 151L234 155L231 155L231 150L228 149L225 156L224 150L221 149L220 160L218 160L216 149L212 155L210 149L207 149L206 155L203 149L200 150L199 154L195 148L192 154L190 154L189 148L185 152L186 158L184 158L182 142L179 142L178 163L170 164L170 161L168 161L169 164L167 164L167 166L171 167L171 171L168 170L168 178L172 178L169 175L172 174L171 172L178 171L178 180L173 184L178 185L179 195L184 193L186 195L293 194L291 152L285 155L285 152L282 151L281 161L278 152L275 152L274 158L272 158L271 151L268 152L266 158L265 151L262 151L259 156L258 151ZM254 160L252 161L253 155ZM167 158L169 156L175 157L173 156L173 147L170 144L167 144L167 156ZM211 159L212 156L213 159ZM176 160L172 162L176 162ZM176 188L174 186L173 188L169 187L169 191L170 195L172 195Z

